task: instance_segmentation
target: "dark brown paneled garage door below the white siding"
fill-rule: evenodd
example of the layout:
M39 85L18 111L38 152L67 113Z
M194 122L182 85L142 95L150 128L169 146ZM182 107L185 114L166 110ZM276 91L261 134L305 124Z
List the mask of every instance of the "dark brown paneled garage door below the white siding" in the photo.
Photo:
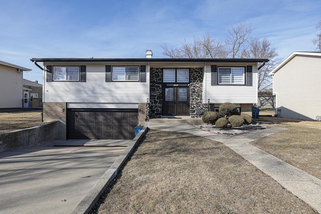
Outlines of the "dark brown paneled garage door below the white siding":
M133 139L137 109L68 110L69 139Z

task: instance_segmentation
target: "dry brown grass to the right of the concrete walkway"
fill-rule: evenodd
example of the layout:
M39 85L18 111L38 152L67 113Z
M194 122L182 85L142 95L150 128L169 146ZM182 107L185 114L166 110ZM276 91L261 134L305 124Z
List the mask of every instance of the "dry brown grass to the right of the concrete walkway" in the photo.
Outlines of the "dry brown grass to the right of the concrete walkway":
M321 122L275 117L264 120L278 121L280 124L275 125L288 129L251 144L321 179Z

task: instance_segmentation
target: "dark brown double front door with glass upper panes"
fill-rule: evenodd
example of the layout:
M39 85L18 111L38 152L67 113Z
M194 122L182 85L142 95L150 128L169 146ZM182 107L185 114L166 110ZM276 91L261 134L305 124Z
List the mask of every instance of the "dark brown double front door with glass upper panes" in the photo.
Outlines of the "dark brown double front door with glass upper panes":
M190 88L164 87L163 115L190 115Z

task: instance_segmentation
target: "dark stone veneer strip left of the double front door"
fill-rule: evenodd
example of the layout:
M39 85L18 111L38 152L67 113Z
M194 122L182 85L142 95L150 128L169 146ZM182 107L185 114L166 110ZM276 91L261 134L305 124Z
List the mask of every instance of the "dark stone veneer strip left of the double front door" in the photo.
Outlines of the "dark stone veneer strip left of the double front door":
M150 68L149 117L161 117L163 109L163 69Z

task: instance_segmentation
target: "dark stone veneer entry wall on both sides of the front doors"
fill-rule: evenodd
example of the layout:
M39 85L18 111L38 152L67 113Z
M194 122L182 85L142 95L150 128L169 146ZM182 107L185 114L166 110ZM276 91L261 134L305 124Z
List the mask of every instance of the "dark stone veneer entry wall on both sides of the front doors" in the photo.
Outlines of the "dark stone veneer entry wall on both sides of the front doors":
M163 69L150 68L150 117L161 117L163 109ZM190 116L202 117L209 110L203 104L203 69L190 68Z

